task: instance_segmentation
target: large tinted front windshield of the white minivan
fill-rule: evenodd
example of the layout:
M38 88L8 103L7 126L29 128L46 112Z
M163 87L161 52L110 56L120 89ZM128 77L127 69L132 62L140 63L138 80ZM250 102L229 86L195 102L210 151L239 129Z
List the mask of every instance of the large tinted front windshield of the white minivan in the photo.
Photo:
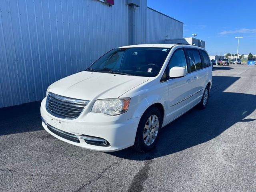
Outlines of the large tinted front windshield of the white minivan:
M171 48L117 48L104 54L86 71L155 77Z

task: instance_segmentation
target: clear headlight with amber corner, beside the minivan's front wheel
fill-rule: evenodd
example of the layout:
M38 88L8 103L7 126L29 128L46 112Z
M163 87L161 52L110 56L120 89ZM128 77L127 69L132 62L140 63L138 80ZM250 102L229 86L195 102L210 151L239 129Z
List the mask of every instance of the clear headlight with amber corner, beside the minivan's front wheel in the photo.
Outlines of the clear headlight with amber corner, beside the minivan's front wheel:
M100 99L96 100L92 112L108 115L119 115L128 110L130 98Z

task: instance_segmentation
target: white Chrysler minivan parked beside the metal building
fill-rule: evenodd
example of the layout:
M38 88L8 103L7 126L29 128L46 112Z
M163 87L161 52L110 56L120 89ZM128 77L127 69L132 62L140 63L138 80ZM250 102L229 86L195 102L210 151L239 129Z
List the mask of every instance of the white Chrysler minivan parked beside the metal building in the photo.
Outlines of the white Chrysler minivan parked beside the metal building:
M110 50L88 69L51 84L42 126L87 149L151 150L163 126L198 105L212 85L210 58L190 45L143 44Z

